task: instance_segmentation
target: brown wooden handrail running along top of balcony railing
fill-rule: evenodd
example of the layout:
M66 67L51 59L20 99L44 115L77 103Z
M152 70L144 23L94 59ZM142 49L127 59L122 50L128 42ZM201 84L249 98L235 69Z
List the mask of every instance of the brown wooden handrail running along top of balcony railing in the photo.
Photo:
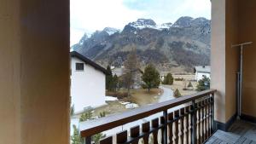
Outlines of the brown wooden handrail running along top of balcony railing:
M189 101L200 99L201 97L210 95L216 91L216 89L207 89L192 95L183 95L182 97L170 101L164 101L145 107L139 107L131 111L110 115L108 117L99 118L96 120L85 121L82 123L83 125L85 125L85 128L84 130L80 130L80 134L82 137L96 135L102 131L110 130L120 125L131 123L141 118L146 118L150 115L162 112L166 109L177 107Z

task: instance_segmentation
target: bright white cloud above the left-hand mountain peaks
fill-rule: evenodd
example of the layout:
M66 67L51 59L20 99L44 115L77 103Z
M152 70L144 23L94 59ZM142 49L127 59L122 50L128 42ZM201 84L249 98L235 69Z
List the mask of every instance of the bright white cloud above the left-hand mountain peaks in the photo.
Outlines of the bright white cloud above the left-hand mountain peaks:
M77 43L83 32L92 33L107 26L122 29L143 16L142 11L128 9L121 0L71 0L70 9L71 44Z

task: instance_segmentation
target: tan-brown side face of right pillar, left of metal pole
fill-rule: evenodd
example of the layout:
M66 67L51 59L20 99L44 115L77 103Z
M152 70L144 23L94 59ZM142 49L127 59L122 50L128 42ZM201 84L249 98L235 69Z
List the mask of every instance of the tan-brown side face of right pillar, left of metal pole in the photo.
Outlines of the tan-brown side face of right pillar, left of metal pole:
M225 119L228 121L236 114L236 73L239 70L239 49L231 48L232 44L237 43L238 17L237 1L226 0L226 29L225 29Z

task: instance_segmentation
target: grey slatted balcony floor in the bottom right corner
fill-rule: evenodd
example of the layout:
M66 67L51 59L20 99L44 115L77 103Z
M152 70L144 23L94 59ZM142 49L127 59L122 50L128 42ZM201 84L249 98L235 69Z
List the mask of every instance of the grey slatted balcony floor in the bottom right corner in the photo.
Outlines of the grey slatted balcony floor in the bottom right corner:
M256 124L236 120L229 132L217 130L207 144L256 144Z

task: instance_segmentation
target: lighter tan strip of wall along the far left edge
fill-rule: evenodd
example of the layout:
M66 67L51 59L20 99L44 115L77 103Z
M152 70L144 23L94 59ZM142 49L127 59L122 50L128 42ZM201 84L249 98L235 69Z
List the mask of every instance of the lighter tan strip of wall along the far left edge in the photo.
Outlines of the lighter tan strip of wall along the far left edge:
M16 9L16 10L14 10ZM19 3L0 2L0 143L20 141ZM15 41L15 42L14 42Z

